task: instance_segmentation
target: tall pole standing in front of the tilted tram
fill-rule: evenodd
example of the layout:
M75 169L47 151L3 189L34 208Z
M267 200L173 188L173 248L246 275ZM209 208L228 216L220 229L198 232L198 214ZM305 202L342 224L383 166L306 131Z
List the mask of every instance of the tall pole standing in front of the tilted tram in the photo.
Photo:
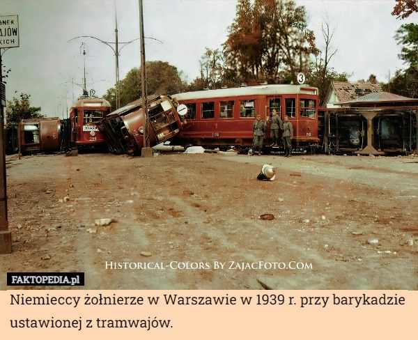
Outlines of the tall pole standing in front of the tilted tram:
M150 148L149 120L146 88L146 62L144 42L144 15L142 11L142 0L139 1L139 36L141 41L141 87L142 87L142 126L144 132L144 146L141 149L141 157L153 157L153 149Z

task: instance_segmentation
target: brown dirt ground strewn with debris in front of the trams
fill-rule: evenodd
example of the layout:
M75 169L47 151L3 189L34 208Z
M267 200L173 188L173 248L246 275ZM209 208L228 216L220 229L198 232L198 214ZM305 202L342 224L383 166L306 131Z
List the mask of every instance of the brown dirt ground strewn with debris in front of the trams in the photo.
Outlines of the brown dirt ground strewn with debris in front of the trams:
M68 288L8 287L6 272L85 272L74 289L418 290L414 155L8 155L6 172L1 290Z

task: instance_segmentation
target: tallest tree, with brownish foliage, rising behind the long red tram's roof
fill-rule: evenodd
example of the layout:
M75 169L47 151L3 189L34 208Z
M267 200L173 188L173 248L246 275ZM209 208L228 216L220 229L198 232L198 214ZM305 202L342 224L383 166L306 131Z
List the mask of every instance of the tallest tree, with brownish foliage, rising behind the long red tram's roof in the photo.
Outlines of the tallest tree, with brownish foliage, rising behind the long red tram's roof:
M315 48L304 6L284 0L240 0L224 43L226 63L242 82L291 82L307 71Z

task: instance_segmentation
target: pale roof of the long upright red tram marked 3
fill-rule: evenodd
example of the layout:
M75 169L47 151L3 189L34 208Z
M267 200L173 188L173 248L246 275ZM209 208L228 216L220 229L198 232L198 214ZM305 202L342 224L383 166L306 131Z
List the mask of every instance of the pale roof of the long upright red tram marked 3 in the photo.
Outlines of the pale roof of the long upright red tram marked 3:
M171 95L171 97L176 98L177 100L199 100L206 98L226 98L245 95L283 95L293 93L316 95L318 94L318 88L304 85L271 84L177 93L175 95Z

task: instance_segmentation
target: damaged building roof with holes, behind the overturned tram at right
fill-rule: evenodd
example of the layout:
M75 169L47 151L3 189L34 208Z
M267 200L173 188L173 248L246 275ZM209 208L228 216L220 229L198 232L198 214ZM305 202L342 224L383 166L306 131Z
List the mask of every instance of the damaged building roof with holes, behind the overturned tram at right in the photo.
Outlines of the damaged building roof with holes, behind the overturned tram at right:
M341 102L347 102L353 100L359 96L366 95L368 93L382 91L380 84L372 84L371 82L332 82L331 91L334 90L338 102L335 104L341 104Z

